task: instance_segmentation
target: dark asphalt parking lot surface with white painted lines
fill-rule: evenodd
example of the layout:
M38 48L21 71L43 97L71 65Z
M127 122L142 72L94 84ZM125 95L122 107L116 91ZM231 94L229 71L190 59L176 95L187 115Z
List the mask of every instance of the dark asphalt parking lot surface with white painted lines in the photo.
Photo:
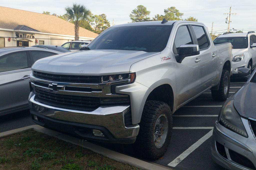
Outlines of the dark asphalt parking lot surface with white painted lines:
M232 80L230 95L244 84ZM211 159L211 135L224 102L212 99L210 90L189 102L173 115L173 131L165 155L154 163L173 169L224 169ZM33 125L29 112L17 112L0 117L0 132ZM132 145L102 144L121 153L134 155Z

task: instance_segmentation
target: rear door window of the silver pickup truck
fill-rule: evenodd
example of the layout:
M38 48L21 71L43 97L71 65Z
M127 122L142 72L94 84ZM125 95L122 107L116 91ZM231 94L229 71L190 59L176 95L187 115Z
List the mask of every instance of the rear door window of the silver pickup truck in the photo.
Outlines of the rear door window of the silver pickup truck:
M207 38L204 28L201 26L195 26L195 25L193 25L192 28L195 32L199 49L202 50L202 49L207 48L210 45L210 43L209 43L209 40Z

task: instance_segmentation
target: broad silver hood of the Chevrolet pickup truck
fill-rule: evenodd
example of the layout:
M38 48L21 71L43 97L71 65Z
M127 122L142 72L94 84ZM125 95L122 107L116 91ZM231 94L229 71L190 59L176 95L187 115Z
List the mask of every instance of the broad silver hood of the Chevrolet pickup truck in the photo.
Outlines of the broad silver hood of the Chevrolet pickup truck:
M81 50L38 60L35 71L62 75L111 75L129 73L133 63L160 52L129 50Z

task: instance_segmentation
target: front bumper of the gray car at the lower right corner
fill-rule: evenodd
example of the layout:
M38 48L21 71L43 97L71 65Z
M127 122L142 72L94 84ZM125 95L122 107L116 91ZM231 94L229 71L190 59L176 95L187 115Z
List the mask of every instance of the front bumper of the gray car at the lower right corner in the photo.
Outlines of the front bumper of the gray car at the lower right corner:
M248 120L243 119L248 138L216 123L212 134L211 153L213 160L227 169L255 169L255 138L248 130ZM240 162L242 160L242 162ZM243 164L243 165L242 165Z

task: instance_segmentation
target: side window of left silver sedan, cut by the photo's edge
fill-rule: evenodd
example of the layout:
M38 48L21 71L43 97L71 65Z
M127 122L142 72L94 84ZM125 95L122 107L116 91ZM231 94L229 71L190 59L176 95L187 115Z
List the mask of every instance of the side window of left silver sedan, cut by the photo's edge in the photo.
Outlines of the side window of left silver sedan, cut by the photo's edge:
M27 52L12 53L0 58L0 72L28 68Z

